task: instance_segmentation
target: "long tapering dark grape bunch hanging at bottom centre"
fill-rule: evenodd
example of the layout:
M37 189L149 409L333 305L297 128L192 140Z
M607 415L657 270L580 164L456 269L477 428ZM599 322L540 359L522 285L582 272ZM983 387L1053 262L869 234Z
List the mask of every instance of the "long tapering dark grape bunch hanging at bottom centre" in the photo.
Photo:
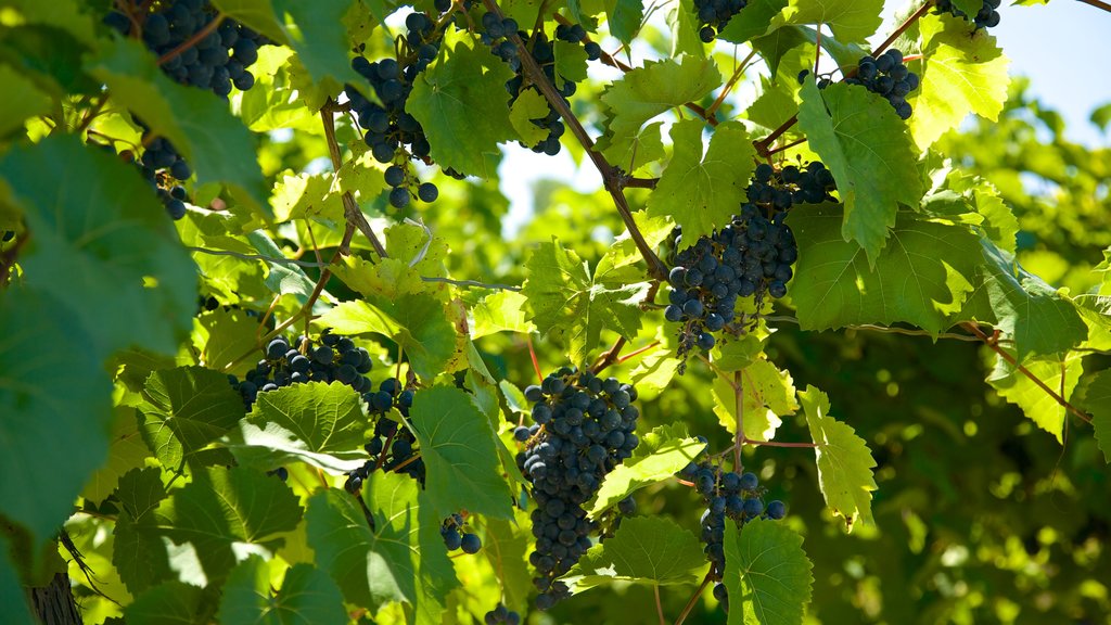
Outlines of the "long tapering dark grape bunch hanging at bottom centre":
M632 405L637 390L631 385L589 370L561 368L540 386L526 388L524 396L533 403L536 425L517 460L537 502L537 544L529 562L538 573L537 607L548 609L569 596L567 585L556 578L590 548L589 536L598 528L582 505L640 443L634 434L640 414ZM630 514L632 506L628 499L619 509Z

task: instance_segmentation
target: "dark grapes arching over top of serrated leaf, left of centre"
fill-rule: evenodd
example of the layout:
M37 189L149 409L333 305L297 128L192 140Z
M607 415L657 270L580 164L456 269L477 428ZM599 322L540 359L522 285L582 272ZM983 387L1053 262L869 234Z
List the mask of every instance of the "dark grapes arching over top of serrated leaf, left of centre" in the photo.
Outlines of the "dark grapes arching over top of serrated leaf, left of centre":
M366 377L373 366L370 354L346 336L324 331L320 344L300 336L292 344L278 337L267 345L266 357L247 373L242 381L229 376L232 387L243 397L248 409L260 393L307 381L341 381L358 393L370 390Z

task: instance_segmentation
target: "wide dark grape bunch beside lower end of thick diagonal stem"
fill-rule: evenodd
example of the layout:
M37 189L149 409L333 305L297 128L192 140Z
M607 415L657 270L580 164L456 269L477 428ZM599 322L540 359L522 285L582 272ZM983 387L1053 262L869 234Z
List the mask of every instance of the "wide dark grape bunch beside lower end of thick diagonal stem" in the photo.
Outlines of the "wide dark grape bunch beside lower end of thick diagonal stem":
M744 324L734 324L738 298L787 295L799 250L783 220L792 206L825 201L834 189L833 176L820 161L779 170L768 163L757 166L740 214L675 255L663 316L682 324L680 355L694 347L712 348L713 333L743 329ZM675 247L681 245L680 234Z

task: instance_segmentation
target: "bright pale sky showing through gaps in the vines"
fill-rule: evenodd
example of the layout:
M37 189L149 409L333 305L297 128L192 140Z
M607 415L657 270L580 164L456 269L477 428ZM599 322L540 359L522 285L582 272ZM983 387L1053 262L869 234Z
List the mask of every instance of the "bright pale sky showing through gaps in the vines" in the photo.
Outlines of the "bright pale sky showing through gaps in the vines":
M902 7L903 2L887 3L888 21L880 29L881 38L894 29L890 16ZM657 16L662 18L664 12ZM1000 17L991 33L1011 59L1011 75L1030 78L1031 92L1063 116L1069 139L1090 147L1111 146L1111 133L1101 132L1088 119L1092 109L1111 102L1111 12L1077 0L1052 0L1034 7L1013 7L1004 0ZM570 132L567 138L573 140ZM510 198L503 225L507 237L532 214L531 189L537 180L556 178L581 190L601 183L589 161L574 163L565 149L549 157L513 145L506 152L501 180L502 192Z

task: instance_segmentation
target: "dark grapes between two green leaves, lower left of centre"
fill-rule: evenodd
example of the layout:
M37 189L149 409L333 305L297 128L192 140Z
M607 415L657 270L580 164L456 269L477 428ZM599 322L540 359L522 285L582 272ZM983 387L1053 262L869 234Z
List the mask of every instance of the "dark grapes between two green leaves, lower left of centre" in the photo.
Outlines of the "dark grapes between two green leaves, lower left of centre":
M358 493L363 480L379 468L408 475L424 485L424 459L414 447L417 436L390 416L390 411L397 408L408 419L414 396L416 391L403 388L397 378L383 380L377 391L368 389L363 393L363 401L378 419L374 421L374 437L363 446L370 459L350 472L343 484L349 493Z

